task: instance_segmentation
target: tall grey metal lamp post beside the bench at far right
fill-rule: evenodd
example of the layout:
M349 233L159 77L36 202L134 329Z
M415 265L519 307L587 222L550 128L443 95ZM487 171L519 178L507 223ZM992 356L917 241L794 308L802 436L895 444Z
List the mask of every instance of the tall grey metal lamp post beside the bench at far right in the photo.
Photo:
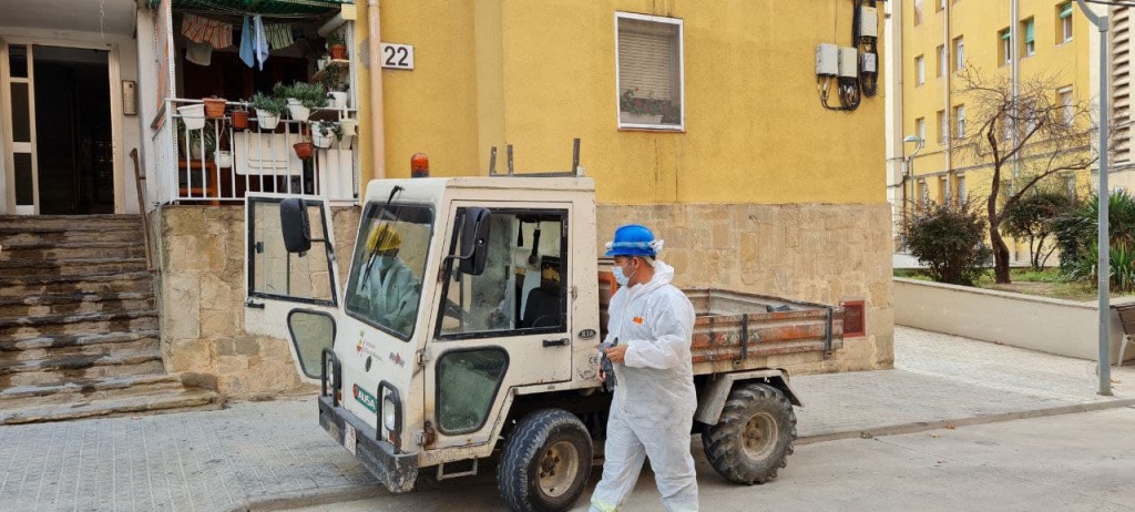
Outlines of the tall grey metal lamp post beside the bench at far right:
M1111 247L1108 228L1108 205L1110 193L1108 192L1108 17L1096 16L1087 8L1084 0L1076 0L1079 10L1084 12L1096 28L1100 30L1100 217L1099 226L1099 251L1100 257L1096 262L1095 274L1099 277L1096 285L1100 294L1100 391L1101 395L1111 395L1111 310L1108 287L1111 284Z

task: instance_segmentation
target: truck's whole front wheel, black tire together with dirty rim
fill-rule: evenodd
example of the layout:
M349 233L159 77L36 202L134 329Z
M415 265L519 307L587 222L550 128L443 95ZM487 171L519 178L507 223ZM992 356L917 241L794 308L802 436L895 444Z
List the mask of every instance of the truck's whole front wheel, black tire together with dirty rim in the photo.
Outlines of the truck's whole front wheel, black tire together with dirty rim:
M591 436L574 414L546 409L524 419L505 442L497 486L510 510L563 511L591 476Z

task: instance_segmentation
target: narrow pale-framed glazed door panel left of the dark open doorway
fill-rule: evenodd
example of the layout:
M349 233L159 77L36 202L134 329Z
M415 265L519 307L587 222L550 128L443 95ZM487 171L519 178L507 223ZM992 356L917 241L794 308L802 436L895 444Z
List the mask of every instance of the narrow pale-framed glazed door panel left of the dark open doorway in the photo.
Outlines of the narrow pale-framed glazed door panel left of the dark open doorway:
M40 212L35 158L34 49L30 44L7 44L0 40L0 104L5 121L5 179L9 198L15 196L17 215ZM9 198L3 198L8 201ZM9 202L11 204L11 202Z

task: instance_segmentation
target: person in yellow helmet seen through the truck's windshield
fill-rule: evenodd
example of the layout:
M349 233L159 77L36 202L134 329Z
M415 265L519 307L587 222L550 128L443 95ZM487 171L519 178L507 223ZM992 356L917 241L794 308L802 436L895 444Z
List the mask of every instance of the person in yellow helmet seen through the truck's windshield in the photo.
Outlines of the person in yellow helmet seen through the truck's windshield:
M388 224L377 226L367 237L375 253L375 265L367 279L360 279L359 295L370 299L370 318L402 334L410 334L418 317L421 280L398 258L402 236Z

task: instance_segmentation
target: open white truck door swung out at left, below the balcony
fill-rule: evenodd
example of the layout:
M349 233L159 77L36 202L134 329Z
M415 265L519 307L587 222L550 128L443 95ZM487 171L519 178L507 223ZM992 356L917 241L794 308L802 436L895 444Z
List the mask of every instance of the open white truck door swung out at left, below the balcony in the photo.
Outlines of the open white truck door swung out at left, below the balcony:
M284 247L284 195L252 194L245 202L244 328L287 339L301 378L318 383L320 354L335 341L340 303L330 212L322 198L304 198L311 250Z

